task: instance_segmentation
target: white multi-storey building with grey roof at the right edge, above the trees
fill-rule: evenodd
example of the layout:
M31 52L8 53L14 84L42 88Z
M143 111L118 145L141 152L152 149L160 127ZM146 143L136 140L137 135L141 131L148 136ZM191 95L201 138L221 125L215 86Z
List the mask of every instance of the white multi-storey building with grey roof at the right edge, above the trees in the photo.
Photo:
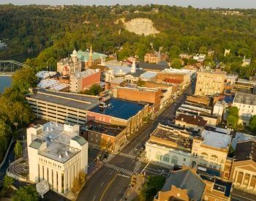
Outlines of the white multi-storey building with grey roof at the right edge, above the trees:
M238 123L249 125L252 116L256 115L256 95L238 92L233 100L233 106L238 107L239 110Z

